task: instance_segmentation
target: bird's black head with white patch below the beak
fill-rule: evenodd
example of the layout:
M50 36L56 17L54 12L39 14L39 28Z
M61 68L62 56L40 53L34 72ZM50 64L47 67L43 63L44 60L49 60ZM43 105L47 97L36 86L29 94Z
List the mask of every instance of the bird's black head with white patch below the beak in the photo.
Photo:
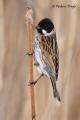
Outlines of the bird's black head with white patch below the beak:
M54 29L54 25L49 18L42 19L36 27L38 33L45 35Z

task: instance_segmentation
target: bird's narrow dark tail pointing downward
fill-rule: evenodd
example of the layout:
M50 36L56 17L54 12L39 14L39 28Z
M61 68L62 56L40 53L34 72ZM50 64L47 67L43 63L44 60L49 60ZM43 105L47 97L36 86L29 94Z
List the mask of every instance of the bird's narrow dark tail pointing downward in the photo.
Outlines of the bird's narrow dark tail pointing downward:
M53 78L50 78L50 79L51 79L51 83L52 83L52 87L53 87L54 97L57 98L58 101L61 101L59 92L56 87L56 80L54 80Z

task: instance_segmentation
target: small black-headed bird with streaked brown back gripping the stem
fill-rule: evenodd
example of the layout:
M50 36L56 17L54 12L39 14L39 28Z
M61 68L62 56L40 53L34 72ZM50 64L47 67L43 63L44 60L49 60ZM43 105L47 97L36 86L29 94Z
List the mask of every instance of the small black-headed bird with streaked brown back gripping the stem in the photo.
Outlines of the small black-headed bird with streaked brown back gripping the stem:
M32 54L40 77L30 85L36 84L42 76L47 76L52 84L54 98L61 101L56 86L59 73L59 49L54 24L50 18L43 18L35 28L37 33L33 40Z

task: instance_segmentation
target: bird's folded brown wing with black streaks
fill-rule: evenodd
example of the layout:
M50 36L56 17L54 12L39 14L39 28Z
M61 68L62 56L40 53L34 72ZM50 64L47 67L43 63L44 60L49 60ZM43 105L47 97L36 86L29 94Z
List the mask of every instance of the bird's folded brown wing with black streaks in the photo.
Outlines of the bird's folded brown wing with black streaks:
M52 68L52 71L53 73L55 73L57 80L59 69L59 52L56 36L55 35L52 37L42 36L40 48L42 51L44 62Z

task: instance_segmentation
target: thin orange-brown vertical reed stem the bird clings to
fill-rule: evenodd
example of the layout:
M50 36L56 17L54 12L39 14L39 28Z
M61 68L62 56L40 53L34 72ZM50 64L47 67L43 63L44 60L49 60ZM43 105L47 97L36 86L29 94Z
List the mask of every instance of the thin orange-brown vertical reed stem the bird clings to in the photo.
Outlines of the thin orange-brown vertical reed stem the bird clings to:
M28 11L30 12L29 9ZM29 53L32 53L32 39L33 39L33 25L32 25L32 14L30 14L28 12L28 14L26 15L26 17L28 18L27 20L27 40L29 41ZM32 11L33 12L33 11ZM29 80L30 82L33 81L33 56L30 55L29 56ZM30 86L30 92L31 92L31 112L32 112L32 120L36 120L36 113L35 113L35 95L34 95L34 85Z

